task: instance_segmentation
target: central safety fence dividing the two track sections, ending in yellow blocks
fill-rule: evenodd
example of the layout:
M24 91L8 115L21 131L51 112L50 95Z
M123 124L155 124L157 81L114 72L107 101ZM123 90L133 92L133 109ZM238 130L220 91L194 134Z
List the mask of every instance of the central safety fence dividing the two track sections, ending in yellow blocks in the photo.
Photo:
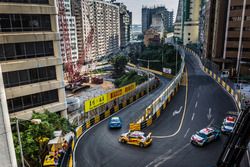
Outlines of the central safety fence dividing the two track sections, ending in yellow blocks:
M161 112L165 111L167 104L177 93L181 84L182 75L185 67L184 50L179 47L179 52L182 57L182 64L179 73L173 78L170 84L167 85L166 89L161 93L161 95L146 108L144 115L140 117L138 121L129 124L130 130L141 130L150 126L161 115Z

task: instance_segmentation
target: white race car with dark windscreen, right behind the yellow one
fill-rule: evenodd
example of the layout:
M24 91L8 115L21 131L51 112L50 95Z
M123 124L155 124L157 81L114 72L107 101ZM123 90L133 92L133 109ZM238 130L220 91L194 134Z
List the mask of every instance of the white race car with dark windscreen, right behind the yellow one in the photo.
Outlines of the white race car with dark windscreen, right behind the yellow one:
M204 146L214 140L219 139L221 133L218 129L208 127L201 129L191 137L191 143L197 146Z

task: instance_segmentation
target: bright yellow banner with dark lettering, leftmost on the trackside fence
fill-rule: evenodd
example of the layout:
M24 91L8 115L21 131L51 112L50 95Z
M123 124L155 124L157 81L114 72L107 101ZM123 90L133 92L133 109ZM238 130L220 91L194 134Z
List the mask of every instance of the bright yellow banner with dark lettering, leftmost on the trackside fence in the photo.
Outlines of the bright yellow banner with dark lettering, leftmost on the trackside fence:
M107 103L107 94L103 94L100 96L97 96L95 98L92 98L90 100L85 101L84 106L85 106L85 110L84 112L89 112L90 110L93 110L105 103Z

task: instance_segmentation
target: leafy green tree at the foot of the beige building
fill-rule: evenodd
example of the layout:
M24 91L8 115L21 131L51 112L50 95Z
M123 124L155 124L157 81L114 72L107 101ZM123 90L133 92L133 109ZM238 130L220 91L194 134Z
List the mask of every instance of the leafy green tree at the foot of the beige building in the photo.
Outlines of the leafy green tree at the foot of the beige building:
M32 119L41 119L40 124L32 124L30 121L19 121L22 149L25 159L31 166L40 166L39 158L43 158L47 148L46 139L52 139L55 130L62 130L67 133L71 130L69 122L56 113L45 111L44 113L33 113ZM20 163L20 147L17 132L13 127L13 139L16 150L16 157Z

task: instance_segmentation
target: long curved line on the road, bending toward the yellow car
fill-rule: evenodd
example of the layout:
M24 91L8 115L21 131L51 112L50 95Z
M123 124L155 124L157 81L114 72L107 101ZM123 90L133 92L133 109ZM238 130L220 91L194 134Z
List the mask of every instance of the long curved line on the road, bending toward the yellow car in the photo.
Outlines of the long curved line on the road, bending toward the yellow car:
M187 69L186 69L187 70ZM186 115L186 109L187 109L187 96L188 96L188 71L186 71L187 75L186 75L186 82L187 82L187 85L186 85L186 95L185 95L185 105L184 105L184 111L182 113L182 118L181 118L181 123L179 125L179 128L177 129L177 131L171 135L167 135L167 136L152 136L154 138L158 138L158 139L164 139L164 138L169 138L169 137L173 137L175 135L177 135L179 133L179 131L181 130L181 127L182 127L182 124L184 122L184 118L185 118L185 115Z

